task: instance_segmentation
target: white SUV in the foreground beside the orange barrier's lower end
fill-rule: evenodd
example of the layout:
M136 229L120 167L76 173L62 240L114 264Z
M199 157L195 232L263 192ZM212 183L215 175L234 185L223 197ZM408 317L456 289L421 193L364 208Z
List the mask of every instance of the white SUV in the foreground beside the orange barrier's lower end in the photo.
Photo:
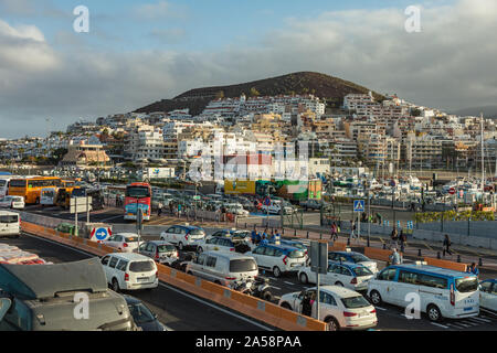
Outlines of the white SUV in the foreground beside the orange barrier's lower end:
M303 304L307 298L317 298L317 289L282 296L278 306L316 318L317 303L313 302L310 312ZM308 308L308 306L307 306ZM343 287L322 286L319 288L319 318L329 331L366 330L378 324L377 310L360 293Z

